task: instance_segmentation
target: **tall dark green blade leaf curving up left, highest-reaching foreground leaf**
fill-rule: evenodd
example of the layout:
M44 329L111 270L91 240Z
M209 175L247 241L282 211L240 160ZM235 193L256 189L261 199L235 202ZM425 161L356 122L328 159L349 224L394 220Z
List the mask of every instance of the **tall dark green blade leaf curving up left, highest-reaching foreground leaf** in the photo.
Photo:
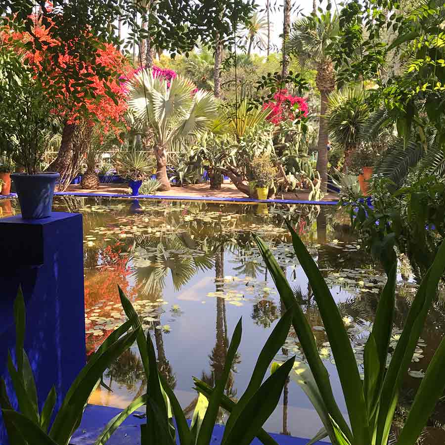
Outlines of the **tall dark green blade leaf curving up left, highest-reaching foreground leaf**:
M311 283L318 311L329 339L348 408L354 445L368 445L370 436L363 387L348 332L337 304L311 254L292 226L287 221L286 224L292 234L295 254Z

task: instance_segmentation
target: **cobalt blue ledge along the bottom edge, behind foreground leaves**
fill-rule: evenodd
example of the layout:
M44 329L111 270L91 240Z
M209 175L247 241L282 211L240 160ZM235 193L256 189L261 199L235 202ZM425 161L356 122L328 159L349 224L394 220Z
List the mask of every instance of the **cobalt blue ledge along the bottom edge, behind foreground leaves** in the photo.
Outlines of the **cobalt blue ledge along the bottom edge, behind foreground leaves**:
M143 408L143 407L142 407ZM105 425L122 409L109 406L88 405L82 419L81 426L71 438L70 445L92 445L97 436L102 432ZM142 410L144 412L144 410ZM131 415L117 429L117 431L108 439L107 445L140 445L140 424L145 423L146 419L138 419ZM190 425L190 423L189 423ZM212 445L220 445L223 439L224 427L215 425L213 429ZM309 439L299 437L284 436L282 434L271 433L270 436L279 445L306 445ZM326 442L317 442L317 445L327 445ZM159 444L161 445L161 444ZM261 445L261 442L255 438L252 445Z

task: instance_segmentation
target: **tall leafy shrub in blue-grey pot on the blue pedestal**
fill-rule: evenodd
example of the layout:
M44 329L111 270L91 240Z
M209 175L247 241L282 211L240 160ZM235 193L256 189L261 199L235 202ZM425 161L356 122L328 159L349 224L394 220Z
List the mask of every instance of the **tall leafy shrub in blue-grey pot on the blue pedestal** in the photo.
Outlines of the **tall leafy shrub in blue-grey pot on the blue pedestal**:
M23 173L11 179L20 201L22 218L41 219L51 213L58 173L43 172L43 155L57 133L51 103L32 68L12 51L2 54L0 68L0 155L12 159Z

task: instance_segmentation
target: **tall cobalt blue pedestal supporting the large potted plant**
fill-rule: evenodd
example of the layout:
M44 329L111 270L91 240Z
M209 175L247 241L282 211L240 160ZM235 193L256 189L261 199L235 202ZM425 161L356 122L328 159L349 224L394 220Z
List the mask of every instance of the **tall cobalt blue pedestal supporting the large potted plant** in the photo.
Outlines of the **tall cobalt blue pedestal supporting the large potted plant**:
M10 350L15 363L13 302L21 285L25 351L34 370L39 405L42 408L54 385L57 409L86 362L82 215L1 219L0 245L0 375L17 408L6 359ZM1 414L0 444L7 444Z

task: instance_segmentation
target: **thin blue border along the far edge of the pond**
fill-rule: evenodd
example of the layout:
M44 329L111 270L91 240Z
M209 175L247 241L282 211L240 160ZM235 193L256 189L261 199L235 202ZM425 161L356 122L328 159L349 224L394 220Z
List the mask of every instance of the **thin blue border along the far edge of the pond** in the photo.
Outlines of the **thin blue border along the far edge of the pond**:
M55 192L55 196L79 196L83 198L130 198L130 199L167 199L169 201L220 201L241 202L246 204L277 203L277 204L309 204L309 205L336 205L338 201L306 201L303 199L251 199L251 198L222 198L211 196L164 196L164 195L138 195L131 196L121 193L83 193L83 192ZM16 198L16 193L0 196L0 199Z

